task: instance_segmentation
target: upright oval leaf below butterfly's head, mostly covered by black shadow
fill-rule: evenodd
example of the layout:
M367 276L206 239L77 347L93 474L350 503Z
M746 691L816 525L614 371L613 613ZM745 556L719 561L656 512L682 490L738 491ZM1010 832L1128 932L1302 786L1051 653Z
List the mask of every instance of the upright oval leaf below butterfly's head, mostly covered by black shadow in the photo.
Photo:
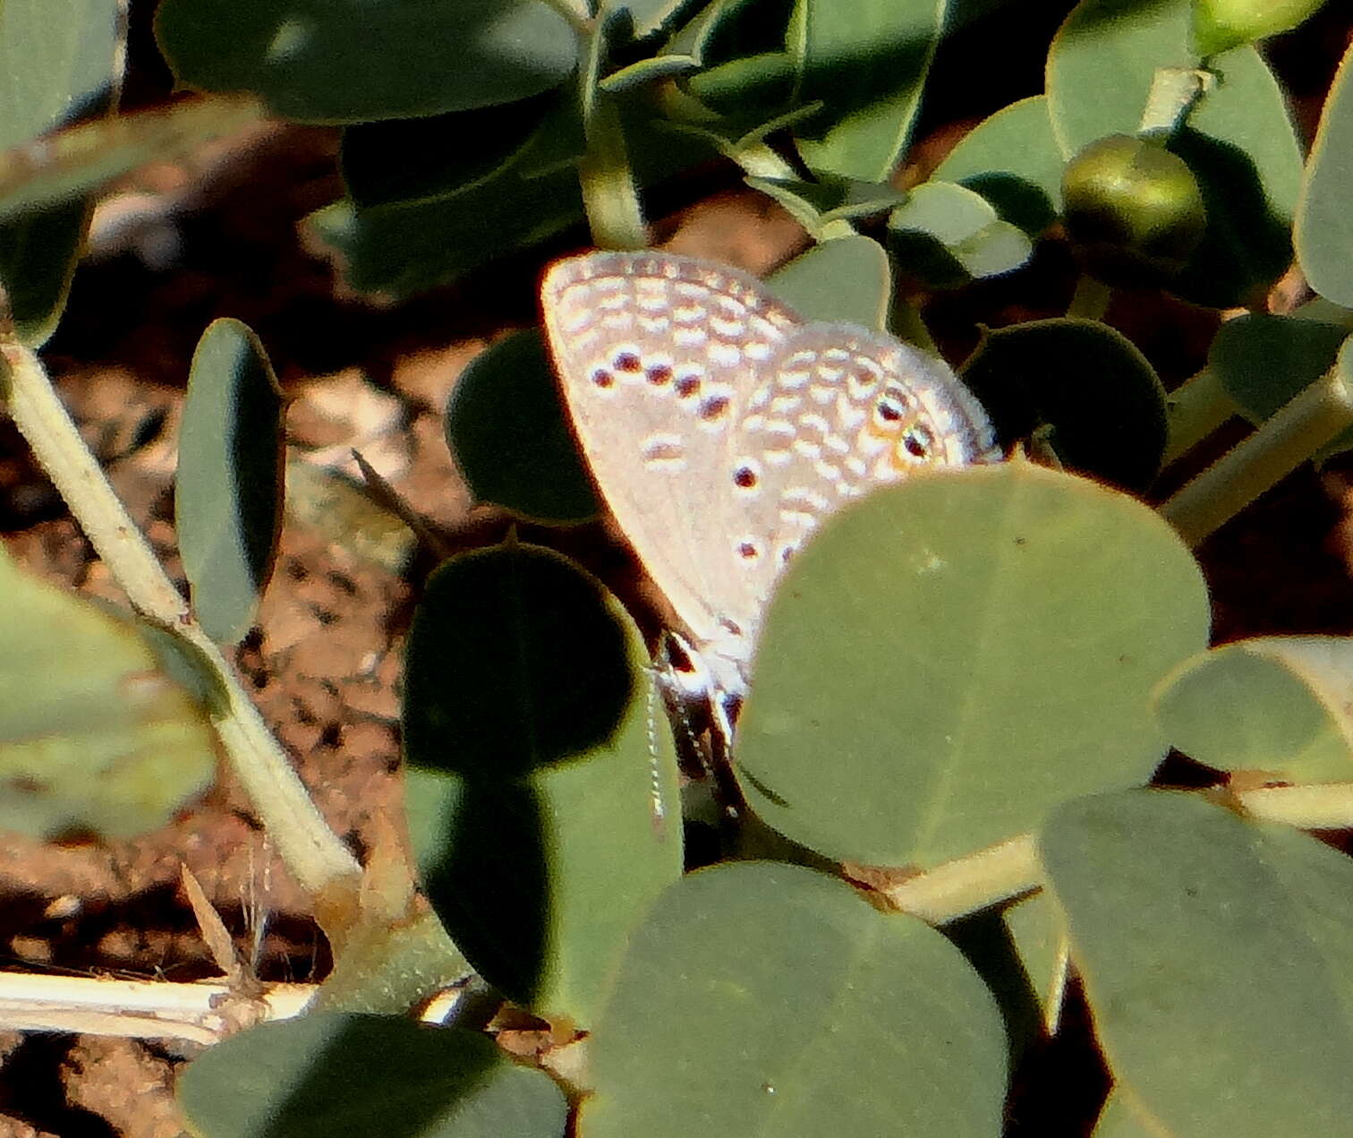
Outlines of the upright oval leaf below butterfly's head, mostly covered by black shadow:
M660 713L632 621L557 553L483 549L429 579L405 666L410 831L452 938L520 1003L590 1024L681 873Z

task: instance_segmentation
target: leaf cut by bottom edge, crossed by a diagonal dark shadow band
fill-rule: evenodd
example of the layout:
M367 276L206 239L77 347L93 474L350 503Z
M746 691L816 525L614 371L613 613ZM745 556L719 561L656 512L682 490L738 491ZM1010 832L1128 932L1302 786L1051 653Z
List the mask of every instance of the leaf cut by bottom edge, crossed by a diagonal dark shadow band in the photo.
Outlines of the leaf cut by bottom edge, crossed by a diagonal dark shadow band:
M231 1035L179 1078L204 1138L561 1138L568 1104L491 1039L405 1019L311 1014Z

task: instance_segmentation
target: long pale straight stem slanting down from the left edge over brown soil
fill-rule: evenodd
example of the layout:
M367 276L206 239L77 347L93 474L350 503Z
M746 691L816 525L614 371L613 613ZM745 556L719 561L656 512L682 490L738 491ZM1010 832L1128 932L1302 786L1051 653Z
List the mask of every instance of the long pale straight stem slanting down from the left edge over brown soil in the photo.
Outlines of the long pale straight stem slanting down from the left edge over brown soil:
M42 364L14 340L0 342L9 414L99 556L146 620L188 641L225 694L214 725L254 809L317 911L337 915L356 903L361 866L327 827L285 752L268 731L234 668L192 618L154 552L108 484L97 460L51 387ZM321 924L326 924L321 916ZM326 924L333 938L341 927Z

